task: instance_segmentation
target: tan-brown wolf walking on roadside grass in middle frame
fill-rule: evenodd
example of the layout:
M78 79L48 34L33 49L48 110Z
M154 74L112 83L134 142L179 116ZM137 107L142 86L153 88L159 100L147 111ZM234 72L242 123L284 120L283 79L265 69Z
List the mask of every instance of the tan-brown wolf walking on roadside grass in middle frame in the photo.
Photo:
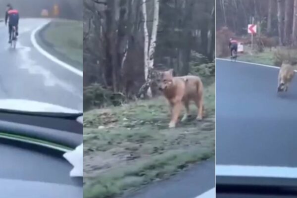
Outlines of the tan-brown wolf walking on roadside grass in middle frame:
M165 71L158 83L159 89L170 104L171 121L169 127L176 126L183 105L186 113L182 118L185 121L189 115L189 103L194 101L198 107L197 120L203 116L203 84L198 76L173 77L173 70Z

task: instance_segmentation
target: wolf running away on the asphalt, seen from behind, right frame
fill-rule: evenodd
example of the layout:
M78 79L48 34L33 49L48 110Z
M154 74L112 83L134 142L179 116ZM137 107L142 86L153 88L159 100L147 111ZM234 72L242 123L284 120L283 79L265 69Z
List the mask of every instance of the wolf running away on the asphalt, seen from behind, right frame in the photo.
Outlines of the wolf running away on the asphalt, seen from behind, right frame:
M295 72L294 72L293 66L288 62L284 62L279 71L277 91L287 92L289 84L292 82L294 75L295 75Z

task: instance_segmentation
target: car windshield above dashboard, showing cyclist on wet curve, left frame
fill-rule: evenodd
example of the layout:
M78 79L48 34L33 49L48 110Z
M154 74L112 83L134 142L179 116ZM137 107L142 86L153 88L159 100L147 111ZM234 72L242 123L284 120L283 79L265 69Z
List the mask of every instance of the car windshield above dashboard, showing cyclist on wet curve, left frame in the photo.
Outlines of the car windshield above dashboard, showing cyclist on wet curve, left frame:
M0 1L0 109L83 110L82 0Z

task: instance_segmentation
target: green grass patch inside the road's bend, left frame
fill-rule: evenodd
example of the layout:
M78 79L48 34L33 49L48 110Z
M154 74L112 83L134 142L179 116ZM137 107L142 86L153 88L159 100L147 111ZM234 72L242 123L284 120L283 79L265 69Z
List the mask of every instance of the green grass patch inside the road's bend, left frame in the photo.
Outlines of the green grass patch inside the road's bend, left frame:
M58 52L83 65L83 23L53 20L44 33L45 40Z

